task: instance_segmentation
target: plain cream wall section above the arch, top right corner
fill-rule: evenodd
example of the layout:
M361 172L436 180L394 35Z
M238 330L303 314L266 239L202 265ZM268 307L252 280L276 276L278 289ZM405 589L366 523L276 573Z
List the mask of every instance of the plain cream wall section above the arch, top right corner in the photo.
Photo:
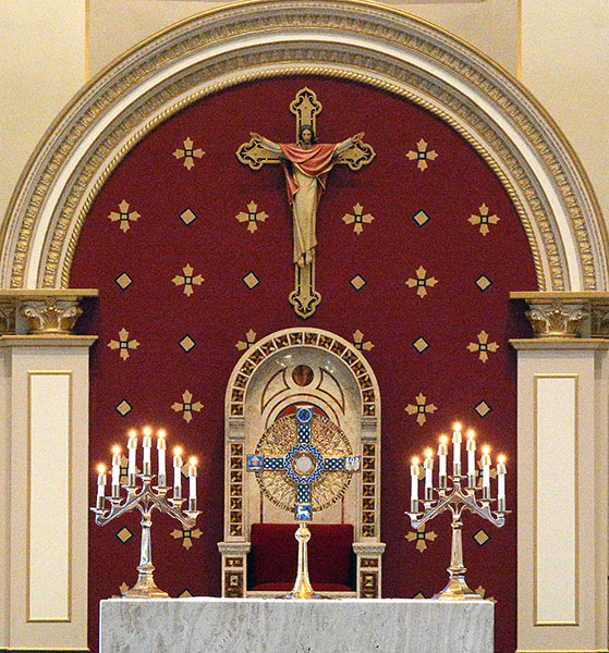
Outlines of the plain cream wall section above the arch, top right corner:
M522 0L522 82L574 147L609 222L608 67L608 0Z

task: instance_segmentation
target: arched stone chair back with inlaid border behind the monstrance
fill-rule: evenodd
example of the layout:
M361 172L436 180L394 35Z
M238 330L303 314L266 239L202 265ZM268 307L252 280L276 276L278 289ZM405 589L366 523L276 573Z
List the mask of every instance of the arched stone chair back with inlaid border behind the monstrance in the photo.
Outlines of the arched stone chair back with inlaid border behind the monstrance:
M316 512L314 523L353 525L356 595L380 597L385 544L380 541L378 384L369 364L352 343L305 328L279 331L251 345L227 387L224 541L218 544L222 595L255 595L246 586L252 525L294 522L293 514L264 495L255 473L246 471L245 461L261 434L291 407L303 403L339 427L362 463L343 496Z

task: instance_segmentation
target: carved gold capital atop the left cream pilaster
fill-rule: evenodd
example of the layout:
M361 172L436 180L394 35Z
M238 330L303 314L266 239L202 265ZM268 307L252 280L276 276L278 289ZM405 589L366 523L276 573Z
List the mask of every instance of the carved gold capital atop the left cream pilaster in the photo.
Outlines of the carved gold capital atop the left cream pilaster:
M71 335L83 299L97 295L96 289L1 289L0 335Z

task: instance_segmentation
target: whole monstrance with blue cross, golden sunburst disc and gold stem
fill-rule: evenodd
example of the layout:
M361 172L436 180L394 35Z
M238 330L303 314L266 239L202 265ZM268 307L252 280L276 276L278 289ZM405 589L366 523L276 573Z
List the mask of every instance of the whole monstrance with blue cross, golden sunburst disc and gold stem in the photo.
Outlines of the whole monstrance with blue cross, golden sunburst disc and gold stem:
M300 522L299 570L293 590L284 599L321 599L308 578L306 523L313 513L329 507L346 492L351 475L360 470L346 435L329 419L299 405L294 416L277 420L265 431L247 471L256 472L263 494L275 505L294 513Z

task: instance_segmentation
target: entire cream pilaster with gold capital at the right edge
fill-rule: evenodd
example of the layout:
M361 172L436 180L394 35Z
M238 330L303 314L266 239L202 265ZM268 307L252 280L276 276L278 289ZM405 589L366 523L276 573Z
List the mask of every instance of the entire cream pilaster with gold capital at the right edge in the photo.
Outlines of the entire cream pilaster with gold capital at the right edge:
M512 293L517 651L607 651L609 293Z

